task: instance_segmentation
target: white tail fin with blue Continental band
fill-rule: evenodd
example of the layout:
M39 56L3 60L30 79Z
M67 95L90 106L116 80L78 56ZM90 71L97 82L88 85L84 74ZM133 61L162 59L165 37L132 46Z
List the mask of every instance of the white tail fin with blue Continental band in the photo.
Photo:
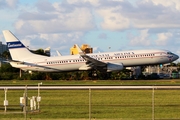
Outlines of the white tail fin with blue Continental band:
M22 61L37 56L31 53L11 31L4 30L3 35L13 60Z

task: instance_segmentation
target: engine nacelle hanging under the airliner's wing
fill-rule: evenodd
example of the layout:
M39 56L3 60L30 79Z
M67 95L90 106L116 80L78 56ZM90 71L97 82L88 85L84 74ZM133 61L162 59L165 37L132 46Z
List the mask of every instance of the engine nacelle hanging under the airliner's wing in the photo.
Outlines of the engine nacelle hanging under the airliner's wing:
M118 71L122 70L123 64L122 63L108 63L107 64L107 72L112 72L112 71Z

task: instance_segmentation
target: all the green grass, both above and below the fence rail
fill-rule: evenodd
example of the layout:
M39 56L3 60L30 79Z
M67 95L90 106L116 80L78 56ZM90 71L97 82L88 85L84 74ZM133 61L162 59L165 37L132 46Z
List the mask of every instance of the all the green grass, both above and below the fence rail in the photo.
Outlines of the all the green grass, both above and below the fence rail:
M1 81L1 85L180 85L180 80L159 81ZM147 83L146 83L147 82ZM8 84L6 84L8 83ZM8 90L8 112L20 112L19 97L24 90ZM41 90L40 113L27 118L89 119L88 90ZM37 90L28 90L28 97ZM180 119L179 90L155 90L155 119ZM4 91L0 91L0 112L4 112ZM29 108L28 108L29 109ZM96 119L152 119L152 90L92 90L91 117ZM23 114L1 114L0 119L20 120Z

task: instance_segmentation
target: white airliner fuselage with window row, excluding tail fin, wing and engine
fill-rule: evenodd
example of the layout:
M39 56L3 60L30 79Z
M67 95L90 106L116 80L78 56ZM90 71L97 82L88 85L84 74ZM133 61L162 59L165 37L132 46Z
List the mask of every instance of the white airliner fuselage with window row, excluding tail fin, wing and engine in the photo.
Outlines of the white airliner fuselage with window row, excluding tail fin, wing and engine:
M153 65L170 63L179 57L167 50L132 50L107 53L93 53L88 56L105 63L122 63L123 67ZM86 60L81 55L41 57L34 59L24 59L24 64L10 62L13 67L22 70L42 71L42 72L61 72L75 70L89 70ZM28 64L26 64L28 63ZM43 66L43 67L42 67Z

